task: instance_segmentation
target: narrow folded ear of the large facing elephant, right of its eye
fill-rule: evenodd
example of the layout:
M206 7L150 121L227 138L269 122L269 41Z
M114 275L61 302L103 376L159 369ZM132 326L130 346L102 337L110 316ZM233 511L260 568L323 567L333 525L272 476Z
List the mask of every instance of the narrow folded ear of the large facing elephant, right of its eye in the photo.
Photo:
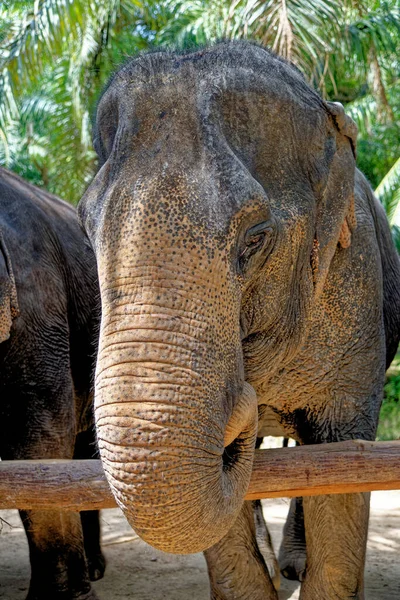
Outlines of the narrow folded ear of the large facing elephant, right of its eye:
M356 227L354 176L357 127L338 102L326 102L336 129L336 151L317 211L316 234L311 254L317 296L324 287L333 255L339 245L348 248Z

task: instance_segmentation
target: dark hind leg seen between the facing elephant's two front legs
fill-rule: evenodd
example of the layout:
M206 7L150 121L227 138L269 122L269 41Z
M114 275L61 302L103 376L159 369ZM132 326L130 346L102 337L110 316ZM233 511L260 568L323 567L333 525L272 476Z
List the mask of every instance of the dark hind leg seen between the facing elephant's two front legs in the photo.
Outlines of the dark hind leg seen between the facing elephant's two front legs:
M290 502L279 549L279 566L286 579L303 581L306 570L303 498L292 498Z

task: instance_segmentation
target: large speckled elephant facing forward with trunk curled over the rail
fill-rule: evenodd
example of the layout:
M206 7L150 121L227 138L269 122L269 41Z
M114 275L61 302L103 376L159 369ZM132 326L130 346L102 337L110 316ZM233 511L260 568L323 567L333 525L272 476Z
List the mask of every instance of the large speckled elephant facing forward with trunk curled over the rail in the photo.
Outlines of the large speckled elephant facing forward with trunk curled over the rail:
M356 136L247 41L139 55L97 106L78 214L102 303L100 456L144 540L205 552L214 600L277 598L244 501L265 423L300 444L375 438L400 266ZM302 600L362 599L368 494L299 507Z

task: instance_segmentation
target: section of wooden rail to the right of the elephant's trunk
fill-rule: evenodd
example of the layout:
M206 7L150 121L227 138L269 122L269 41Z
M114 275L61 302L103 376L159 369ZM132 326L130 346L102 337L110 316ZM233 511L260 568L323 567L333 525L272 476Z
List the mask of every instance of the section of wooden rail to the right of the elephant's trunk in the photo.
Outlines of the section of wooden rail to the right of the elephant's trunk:
M400 441L349 440L256 452L246 498L400 489Z

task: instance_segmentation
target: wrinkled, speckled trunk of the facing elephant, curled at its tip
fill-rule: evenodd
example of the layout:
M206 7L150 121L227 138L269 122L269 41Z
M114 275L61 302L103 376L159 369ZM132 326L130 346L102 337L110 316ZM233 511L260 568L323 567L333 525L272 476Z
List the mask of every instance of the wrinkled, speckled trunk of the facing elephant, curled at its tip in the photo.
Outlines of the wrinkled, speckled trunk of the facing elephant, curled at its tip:
M135 254L127 253L129 233L98 254L101 459L145 541L198 552L230 529L252 469L257 400L243 381L239 307L218 253L197 257L195 272L202 248L160 251L150 236L131 234ZM152 262L142 259L149 253Z

